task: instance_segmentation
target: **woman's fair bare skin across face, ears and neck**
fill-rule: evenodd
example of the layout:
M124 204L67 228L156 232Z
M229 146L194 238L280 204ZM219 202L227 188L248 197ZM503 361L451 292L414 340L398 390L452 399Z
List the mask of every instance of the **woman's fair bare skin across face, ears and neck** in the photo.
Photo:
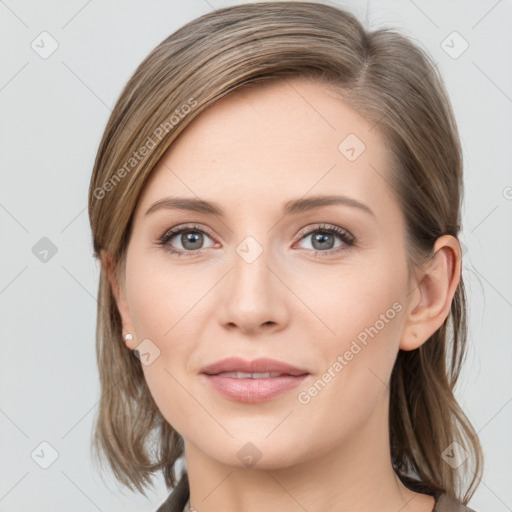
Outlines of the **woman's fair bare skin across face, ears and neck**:
M237 91L194 120L153 170L135 211L123 282L103 259L124 332L133 334L126 346L149 338L160 350L144 375L184 438L190 502L200 512L434 507L392 469L388 385L398 350L418 348L447 317L461 251L455 238L439 238L435 257L408 284L403 214L382 177L386 143L371 128L308 79ZM366 145L352 162L338 150L350 133ZM365 203L374 216L347 205L282 214L287 200L333 193ZM168 196L215 201L225 217L166 208L145 215ZM203 254L178 257L157 244L188 223L206 233ZM356 245L322 255L311 235L319 224L347 230ZM300 238L303 228L311 231ZM252 263L236 251L247 236L263 249ZM186 250L181 236L172 244ZM394 303L401 311L300 403L298 393ZM310 375L266 402L235 402L199 375L232 355L279 359ZM261 453L252 467L237 455L249 442Z

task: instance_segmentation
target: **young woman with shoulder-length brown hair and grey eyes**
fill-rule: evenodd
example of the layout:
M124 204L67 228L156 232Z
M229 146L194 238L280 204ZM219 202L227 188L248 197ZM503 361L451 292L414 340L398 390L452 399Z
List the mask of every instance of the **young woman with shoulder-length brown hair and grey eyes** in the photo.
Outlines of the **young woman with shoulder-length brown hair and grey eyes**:
M98 458L141 493L163 471L160 512L471 511L462 187L403 36L308 2L169 36L91 179Z

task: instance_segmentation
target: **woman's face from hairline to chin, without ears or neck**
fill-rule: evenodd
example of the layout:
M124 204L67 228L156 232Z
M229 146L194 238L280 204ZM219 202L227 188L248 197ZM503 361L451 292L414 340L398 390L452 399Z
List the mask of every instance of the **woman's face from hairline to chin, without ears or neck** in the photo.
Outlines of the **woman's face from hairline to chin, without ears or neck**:
M369 122L295 78L217 102L154 169L118 304L186 450L285 467L387 432L412 296L386 158ZM327 196L346 202L309 202ZM230 357L305 375L202 373Z

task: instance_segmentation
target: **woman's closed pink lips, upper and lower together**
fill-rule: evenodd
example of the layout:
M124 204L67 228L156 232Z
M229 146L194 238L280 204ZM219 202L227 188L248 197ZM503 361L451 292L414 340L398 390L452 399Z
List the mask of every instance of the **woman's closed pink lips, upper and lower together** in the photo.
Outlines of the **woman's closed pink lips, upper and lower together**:
M236 378L218 375L222 372L282 373L279 377ZM260 403L297 387L308 375L302 370L275 359L260 358L246 361L230 357L202 369L202 375L215 391L236 402Z

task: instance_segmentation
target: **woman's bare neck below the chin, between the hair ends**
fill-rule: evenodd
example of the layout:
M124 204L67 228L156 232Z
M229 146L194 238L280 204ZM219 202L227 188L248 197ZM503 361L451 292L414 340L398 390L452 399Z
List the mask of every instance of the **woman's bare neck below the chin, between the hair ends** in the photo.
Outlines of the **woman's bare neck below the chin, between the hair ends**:
M287 467L223 464L185 441L192 510L431 512L434 499L406 488L393 470L389 432L376 428L387 425L387 411L385 399L364 428L343 443L325 446L323 440L316 440L314 456Z

